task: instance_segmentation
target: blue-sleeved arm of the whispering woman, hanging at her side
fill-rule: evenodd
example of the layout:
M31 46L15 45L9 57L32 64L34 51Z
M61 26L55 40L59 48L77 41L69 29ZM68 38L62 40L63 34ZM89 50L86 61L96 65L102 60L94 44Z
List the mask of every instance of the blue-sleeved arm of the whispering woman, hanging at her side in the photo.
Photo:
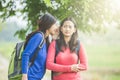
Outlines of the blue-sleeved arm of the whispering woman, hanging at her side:
M30 56L36 50L41 40L42 35L40 33L37 33L34 36L32 36L31 39L28 41L26 48L22 53L22 74L27 74Z

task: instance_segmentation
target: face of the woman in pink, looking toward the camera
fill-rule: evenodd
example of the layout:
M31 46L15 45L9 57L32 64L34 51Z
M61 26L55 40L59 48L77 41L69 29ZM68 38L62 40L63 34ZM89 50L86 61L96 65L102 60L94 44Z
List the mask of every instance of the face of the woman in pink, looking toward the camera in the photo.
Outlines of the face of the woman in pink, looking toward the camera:
M75 31L76 29L72 21L65 21L61 27L64 37L71 37Z

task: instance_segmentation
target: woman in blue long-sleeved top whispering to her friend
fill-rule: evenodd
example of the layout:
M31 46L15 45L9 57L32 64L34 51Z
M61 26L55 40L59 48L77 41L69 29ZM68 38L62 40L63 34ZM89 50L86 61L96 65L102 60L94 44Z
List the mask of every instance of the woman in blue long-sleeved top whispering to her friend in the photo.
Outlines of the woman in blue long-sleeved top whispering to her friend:
M45 14L38 21L38 29L27 36L26 47L22 54L22 80L41 80L43 78L46 69L48 36L50 34L53 36L56 28L56 19L51 14ZM45 42L33 65L29 67L30 59L43 39Z

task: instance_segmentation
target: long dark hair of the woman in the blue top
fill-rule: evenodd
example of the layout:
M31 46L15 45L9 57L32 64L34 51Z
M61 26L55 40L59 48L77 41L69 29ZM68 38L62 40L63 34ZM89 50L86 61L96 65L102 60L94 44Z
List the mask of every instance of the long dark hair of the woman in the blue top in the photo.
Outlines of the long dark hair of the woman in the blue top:
M57 21L57 19L52 16L49 13L44 14L38 21L38 29L36 31L31 32L30 34L28 34L28 36L26 37L26 42L25 42L25 46L28 42L28 40L31 38L32 35L34 35L35 33L37 33L38 31L43 32L43 34L46 33L46 30L48 30L49 28L51 28L51 26L53 24L55 24ZM48 37L46 38L46 43L49 44L49 40Z

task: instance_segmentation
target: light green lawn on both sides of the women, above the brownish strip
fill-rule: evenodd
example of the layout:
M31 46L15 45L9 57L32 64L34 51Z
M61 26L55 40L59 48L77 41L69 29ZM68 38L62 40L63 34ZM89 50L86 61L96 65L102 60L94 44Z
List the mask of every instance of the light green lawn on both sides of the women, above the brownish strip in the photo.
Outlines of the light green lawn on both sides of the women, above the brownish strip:
M0 53L10 58L15 42L0 42ZM120 44L85 45L90 67L120 67Z

